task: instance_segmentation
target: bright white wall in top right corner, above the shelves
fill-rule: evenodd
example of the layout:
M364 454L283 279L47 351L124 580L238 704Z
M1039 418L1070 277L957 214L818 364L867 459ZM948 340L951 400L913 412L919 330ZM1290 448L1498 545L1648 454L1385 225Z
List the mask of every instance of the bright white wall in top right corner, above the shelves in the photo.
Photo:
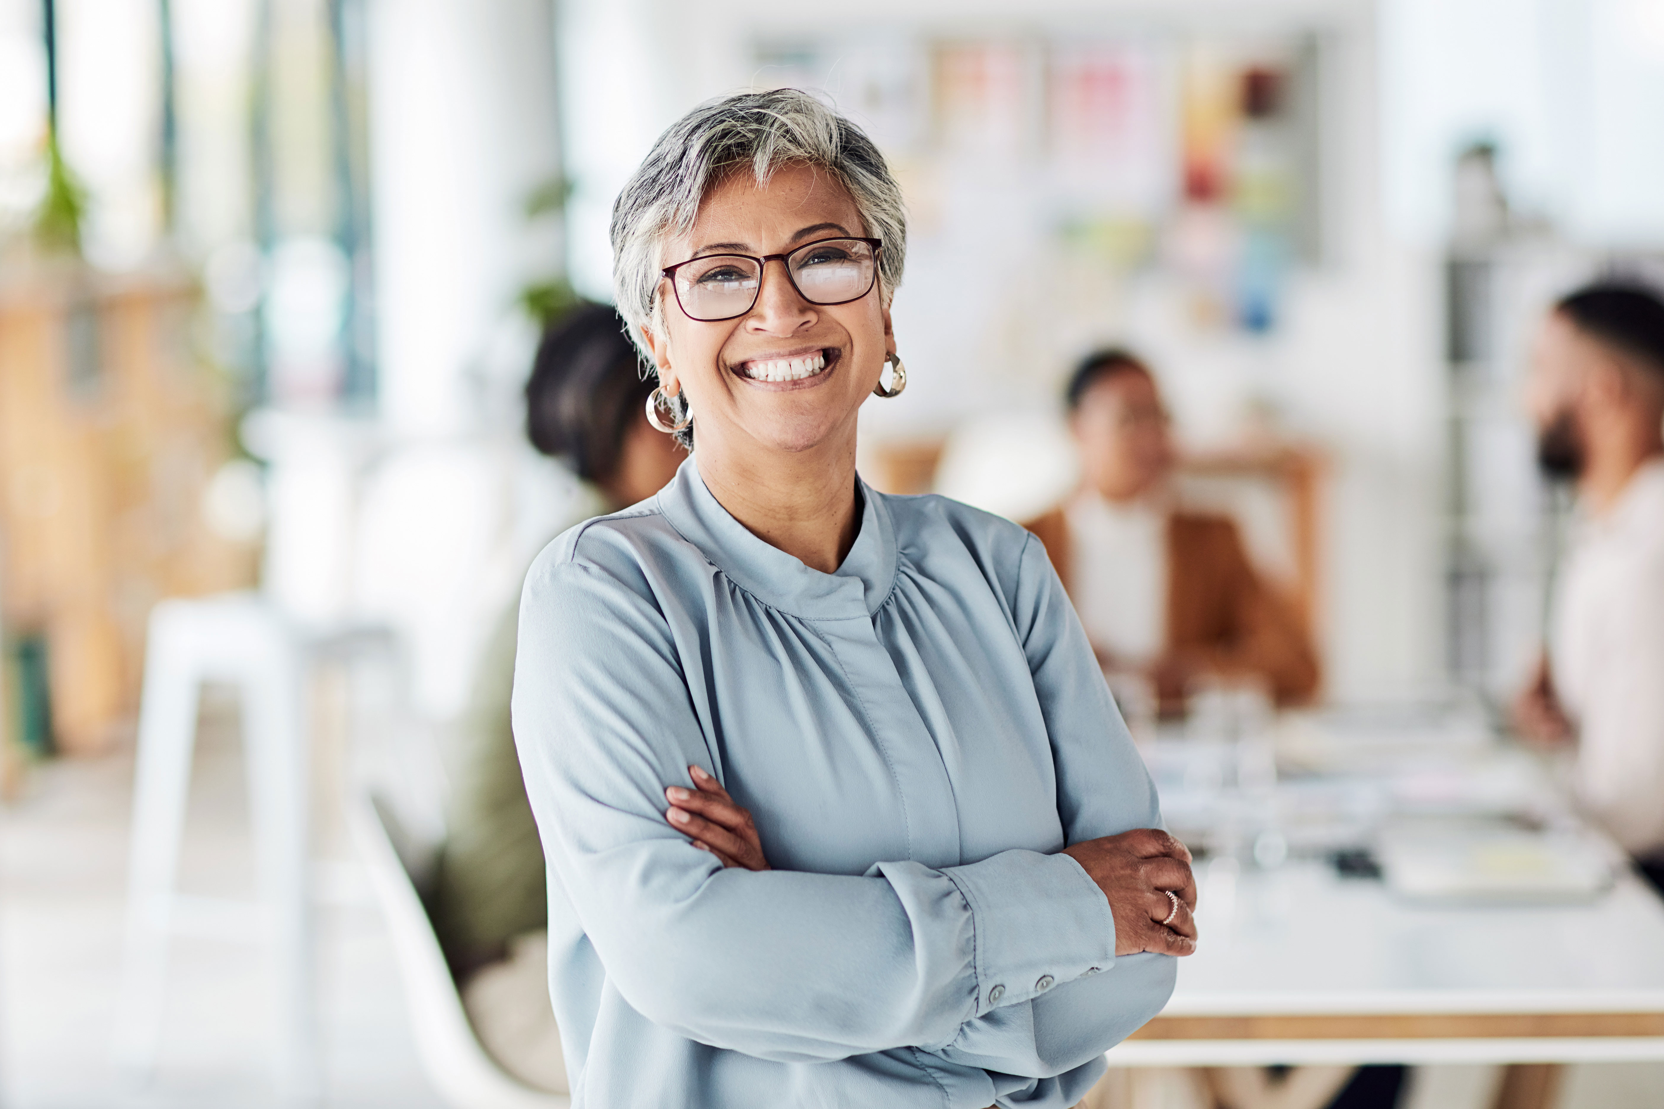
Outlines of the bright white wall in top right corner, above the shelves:
M1438 241L1438 170L1491 138L1519 208L1584 243L1664 243L1664 0L1389 0L1381 27L1396 229Z

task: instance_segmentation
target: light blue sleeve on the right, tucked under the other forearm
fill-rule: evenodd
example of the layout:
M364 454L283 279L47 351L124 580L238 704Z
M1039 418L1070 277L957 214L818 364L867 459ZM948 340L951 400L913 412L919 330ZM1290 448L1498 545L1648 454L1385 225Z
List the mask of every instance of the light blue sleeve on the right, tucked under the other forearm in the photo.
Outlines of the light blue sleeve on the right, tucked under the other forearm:
M1020 567L1013 619L1052 742L1065 841L1160 828L1155 785L1037 539L1028 539ZM1112 973L1058 978L1023 1006L968 1021L940 1054L1005 1074L1062 1074L1160 1013L1176 973L1178 959L1166 954L1120 956Z

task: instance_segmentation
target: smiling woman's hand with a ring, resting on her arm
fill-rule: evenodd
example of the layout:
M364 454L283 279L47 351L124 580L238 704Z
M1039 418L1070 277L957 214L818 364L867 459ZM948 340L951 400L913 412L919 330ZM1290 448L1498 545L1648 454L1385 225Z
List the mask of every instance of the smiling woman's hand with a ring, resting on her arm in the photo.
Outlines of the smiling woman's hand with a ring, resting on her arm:
M1191 954L1196 949L1196 878L1183 843L1160 828L1137 828L1070 845L1063 855L1080 863L1110 900L1115 954ZM1178 896L1176 913L1168 890Z

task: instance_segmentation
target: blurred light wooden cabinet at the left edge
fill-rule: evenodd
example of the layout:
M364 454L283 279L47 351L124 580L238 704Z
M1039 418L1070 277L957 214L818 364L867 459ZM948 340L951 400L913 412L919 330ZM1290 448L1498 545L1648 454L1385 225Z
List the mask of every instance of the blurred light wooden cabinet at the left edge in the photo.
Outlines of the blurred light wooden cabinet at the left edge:
M255 580L256 549L201 512L235 446L196 319L181 276L65 263L0 281L0 617L8 643L45 645L68 753L130 727L156 600Z

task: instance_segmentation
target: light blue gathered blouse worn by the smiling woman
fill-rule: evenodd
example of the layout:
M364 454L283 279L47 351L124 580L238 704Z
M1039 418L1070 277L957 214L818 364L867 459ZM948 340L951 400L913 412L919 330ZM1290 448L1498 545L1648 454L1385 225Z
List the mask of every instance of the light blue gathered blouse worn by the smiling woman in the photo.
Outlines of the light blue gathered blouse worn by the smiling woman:
M1160 823L1038 540L860 485L837 574L696 462L539 555L514 737L576 1106L1073 1106L1166 1003L1068 843ZM767 873L664 820L709 768Z

